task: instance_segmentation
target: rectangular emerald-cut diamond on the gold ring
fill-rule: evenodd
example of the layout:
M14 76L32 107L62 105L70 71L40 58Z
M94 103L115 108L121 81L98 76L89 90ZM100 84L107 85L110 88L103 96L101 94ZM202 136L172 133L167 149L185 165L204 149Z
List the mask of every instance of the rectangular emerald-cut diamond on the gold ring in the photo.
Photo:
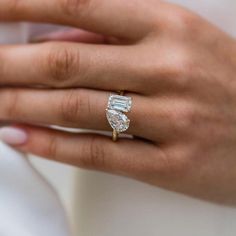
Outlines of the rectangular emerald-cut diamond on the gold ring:
M131 97L111 95L108 101L108 109L122 112L129 112L131 110Z

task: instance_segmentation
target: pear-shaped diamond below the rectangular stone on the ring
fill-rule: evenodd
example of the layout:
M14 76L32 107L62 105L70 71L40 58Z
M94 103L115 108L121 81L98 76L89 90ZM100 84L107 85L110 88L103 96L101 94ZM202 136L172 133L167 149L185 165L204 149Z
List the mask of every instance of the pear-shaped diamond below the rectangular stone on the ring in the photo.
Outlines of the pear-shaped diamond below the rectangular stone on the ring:
M129 128L130 120L120 111L107 110L107 120L117 132L124 132Z

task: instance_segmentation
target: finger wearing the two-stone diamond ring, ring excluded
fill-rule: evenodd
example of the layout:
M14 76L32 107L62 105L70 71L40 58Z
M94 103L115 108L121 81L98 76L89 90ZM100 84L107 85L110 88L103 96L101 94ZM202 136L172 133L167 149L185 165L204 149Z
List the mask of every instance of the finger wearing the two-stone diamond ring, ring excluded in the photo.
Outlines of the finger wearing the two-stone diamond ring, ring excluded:
M171 103L160 101L157 105L152 98L125 95L132 98L132 109L126 113L131 121L127 134L159 143L179 138L172 125L176 108ZM111 131L106 118L109 96L108 92L85 89L1 89L0 120Z

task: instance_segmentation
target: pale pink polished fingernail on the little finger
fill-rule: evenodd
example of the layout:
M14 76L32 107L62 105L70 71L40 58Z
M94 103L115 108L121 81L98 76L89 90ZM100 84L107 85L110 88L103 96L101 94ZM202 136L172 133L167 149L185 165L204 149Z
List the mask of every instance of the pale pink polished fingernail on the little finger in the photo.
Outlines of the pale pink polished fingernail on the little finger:
M9 145L22 145L27 139L28 135L23 129L13 127L0 129L0 140Z

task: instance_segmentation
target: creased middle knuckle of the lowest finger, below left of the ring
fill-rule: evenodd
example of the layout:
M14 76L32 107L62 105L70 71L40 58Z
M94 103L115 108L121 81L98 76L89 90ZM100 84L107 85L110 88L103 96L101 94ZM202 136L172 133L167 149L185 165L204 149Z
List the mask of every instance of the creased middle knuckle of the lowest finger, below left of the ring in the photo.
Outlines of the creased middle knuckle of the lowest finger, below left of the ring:
M99 137L92 137L84 145L84 150L82 151L83 157L81 160L81 165L85 168L104 168L106 163L106 152L104 145L102 145Z

